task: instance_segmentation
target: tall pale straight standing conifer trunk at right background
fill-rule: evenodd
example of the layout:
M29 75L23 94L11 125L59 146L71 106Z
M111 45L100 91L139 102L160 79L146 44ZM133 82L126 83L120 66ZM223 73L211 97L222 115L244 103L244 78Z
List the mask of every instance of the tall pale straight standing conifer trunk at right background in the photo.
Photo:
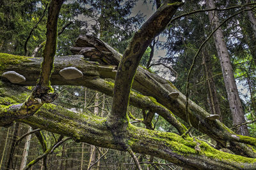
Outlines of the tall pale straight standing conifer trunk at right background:
M215 8L213 0L206 0L205 2L208 8ZM216 27L218 27L218 25L220 25L218 16L216 15L216 11L209 11L208 17L211 22L212 29L215 29ZM243 124L245 122L244 112L241 101L239 99L236 81L234 78L234 72L230 61L230 56L228 54L227 45L224 40L221 28L219 28L214 33L214 41L218 57L220 59L223 78L225 81L225 87L227 90L228 102L232 113L233 124L234 126ZM246 125L239 127L236 132L237 134L242 134L246 136L249 135Z

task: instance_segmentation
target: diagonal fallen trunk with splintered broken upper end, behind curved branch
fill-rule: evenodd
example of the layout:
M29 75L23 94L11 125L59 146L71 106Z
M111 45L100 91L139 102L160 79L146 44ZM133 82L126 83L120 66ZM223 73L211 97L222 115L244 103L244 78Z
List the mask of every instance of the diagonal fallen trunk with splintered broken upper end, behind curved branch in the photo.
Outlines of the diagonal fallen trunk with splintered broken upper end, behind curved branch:
M100 62L101 64L117 64L120 59L120 53L116 52L111 46L107 45L98 38L92 36L79 36L76 41L76 46L71 48L73 53L84 55L93 61ZM109 77L110 78L110 77ZM157 99L157 103L163 104L168 110L172 111L175 115L182 118L185 122L186 118L186 96L177 90L170 81L151 73L144 67L138 67L132 89L138 90L145 96L152 96ZM179 96L172 96L170 94L179 93ZM230 131L228 127L223 125L219 120L211 120L209 113L200 108L193 101L189 100L188 113L191 124L198 131L204 132L211 138L215 139L223 147L227 147L236 154L246 155L248 157L255 157L256 154L245 145L234 147L237 143L232 143L230 147L227 146L229 142L245 142L246 137L237 136L234 132ZM242 139L243 138L243 139ZM256 145L252 139L250 145ZM243 151L243 153L241 153Z

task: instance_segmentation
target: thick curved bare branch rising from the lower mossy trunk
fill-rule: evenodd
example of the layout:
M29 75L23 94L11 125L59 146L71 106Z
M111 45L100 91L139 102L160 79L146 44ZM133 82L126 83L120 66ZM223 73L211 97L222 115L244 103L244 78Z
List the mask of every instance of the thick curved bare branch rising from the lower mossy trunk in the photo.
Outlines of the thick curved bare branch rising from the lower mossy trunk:
M132 37L116 73L113 104L109 115L111 124L118 126L116 122L124 121L132 81L141 57L152 40L164 30L181 4L163 4Z

